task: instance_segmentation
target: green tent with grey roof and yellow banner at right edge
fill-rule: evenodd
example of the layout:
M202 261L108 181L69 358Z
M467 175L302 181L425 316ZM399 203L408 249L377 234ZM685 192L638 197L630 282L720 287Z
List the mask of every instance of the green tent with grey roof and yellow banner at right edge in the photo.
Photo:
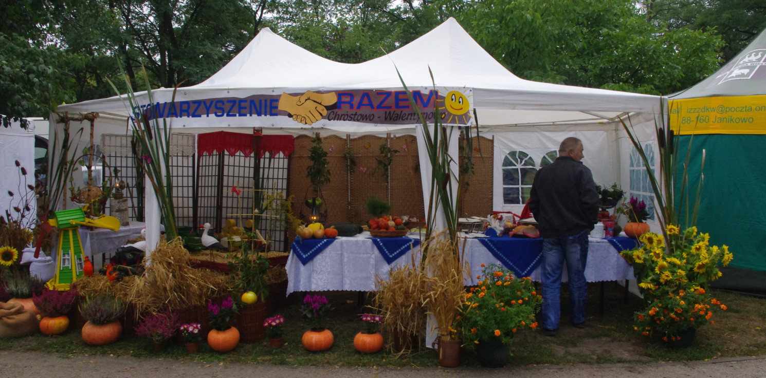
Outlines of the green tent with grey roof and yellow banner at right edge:
M704 185L697 228L725 244L734 260L717 288L766 295L766 31L710 77L669 97L669 120L691 141L689 182ZM693 191L696 191L692 187Z

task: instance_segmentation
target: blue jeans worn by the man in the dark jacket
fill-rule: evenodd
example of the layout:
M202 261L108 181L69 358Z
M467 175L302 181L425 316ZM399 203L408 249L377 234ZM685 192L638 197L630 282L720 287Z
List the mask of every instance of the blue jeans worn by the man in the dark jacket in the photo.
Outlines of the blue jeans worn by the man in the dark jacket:
M585 263L588 261L588 231L572 236L545 238L542 242L542 327L558 329L561 318L561 272L567 263L572 324L585 321Z

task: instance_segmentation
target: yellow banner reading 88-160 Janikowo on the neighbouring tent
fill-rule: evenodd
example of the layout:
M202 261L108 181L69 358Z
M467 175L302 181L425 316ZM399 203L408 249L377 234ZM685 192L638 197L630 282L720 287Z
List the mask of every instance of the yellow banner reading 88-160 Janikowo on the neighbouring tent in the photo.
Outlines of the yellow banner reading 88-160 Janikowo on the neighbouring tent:
M689 134L766 134L766 96L670 101L670 126Z

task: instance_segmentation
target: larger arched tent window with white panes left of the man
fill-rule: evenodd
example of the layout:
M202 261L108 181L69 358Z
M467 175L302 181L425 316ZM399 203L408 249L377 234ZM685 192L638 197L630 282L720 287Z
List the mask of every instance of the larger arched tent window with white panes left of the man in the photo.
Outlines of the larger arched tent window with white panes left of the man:
M545 164L550 164L548 154L542 158L542 161L548 160ZM537 170L535 159L526 152L509 152L502 159L502 203L526 204Z

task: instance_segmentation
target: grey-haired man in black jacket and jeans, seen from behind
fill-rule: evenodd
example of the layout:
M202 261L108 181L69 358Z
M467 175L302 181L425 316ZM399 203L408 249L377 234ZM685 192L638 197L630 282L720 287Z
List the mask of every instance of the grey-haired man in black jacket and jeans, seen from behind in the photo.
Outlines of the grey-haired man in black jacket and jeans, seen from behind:
M566 138L558 158L535 174L529 209L535 215L543 237L542 247L542 329L548 336L558 331L561 318L561 272L567 263L572 325L585 325L585 263L588 259L588 232L598 214L598 193L591 170L581 163L582 142Z

